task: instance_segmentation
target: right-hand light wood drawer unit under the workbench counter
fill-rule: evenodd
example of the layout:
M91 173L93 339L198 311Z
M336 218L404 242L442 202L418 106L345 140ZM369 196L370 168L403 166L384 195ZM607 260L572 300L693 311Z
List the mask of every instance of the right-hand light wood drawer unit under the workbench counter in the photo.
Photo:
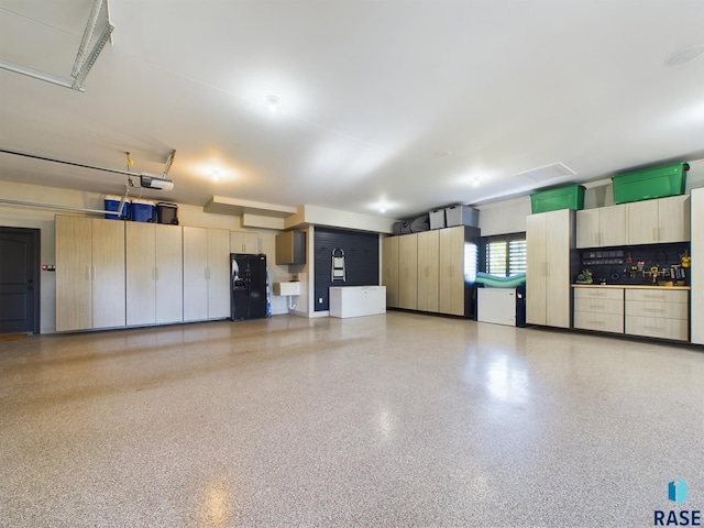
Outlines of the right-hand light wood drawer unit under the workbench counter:
M625 316L628 334L686 341L689 292L627 289Z

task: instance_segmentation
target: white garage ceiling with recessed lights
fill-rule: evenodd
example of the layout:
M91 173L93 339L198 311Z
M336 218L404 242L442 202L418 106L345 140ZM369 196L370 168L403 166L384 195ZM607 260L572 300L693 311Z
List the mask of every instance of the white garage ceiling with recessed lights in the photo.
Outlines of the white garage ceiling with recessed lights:
M90 6L0 0L0 59L68 77ZM703 0L109 7L85 92L0 69L0 147L123 170L129 151L151 173L176 150L175 189L144 197L392 218L704 157L704 57L666 65L704 45ZM557 162L576 176L515 176ZM120 194L127 178L0 154L0 179Z

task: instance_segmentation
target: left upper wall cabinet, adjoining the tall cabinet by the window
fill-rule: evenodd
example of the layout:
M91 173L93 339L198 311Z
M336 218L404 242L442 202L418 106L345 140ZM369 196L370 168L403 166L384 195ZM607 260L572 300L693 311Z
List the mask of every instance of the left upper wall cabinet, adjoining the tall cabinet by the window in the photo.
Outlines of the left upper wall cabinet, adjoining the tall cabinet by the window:
M627 205L576 211L576 246L608 248L628 244Z

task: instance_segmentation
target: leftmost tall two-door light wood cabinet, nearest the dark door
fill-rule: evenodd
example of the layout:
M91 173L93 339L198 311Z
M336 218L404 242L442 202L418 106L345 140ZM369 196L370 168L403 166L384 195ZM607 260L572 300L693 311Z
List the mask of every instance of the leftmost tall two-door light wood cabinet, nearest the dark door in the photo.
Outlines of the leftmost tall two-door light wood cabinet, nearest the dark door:
M125 324L124 223L56 216L56 330Z

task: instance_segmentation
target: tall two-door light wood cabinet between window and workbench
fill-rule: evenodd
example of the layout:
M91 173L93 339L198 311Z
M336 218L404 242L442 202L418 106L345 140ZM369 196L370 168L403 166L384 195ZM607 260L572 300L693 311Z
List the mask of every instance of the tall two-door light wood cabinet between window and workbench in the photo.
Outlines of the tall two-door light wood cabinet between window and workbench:
M526 242L527 322L570 328L574 211L561 209L528 216Z

